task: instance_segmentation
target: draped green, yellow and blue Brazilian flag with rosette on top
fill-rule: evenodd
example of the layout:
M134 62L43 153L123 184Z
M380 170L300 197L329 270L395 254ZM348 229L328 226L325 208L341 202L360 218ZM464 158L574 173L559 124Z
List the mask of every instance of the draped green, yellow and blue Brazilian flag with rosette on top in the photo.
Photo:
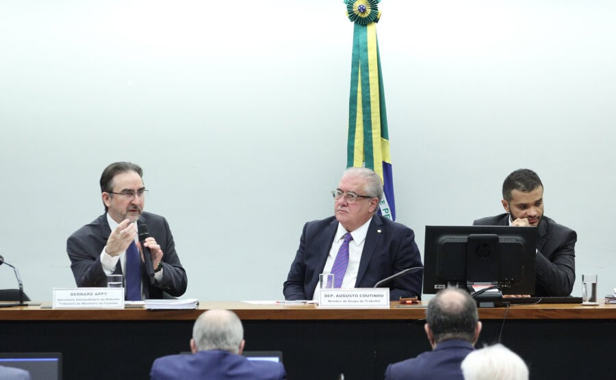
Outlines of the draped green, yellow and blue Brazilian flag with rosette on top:
M389 155L387 112L376 40L381 17L380 0L346 0L346 14L354 23L350 97L348 102L348 149L346 166L365 166L383 181L380 212L396 220L392 157Z

